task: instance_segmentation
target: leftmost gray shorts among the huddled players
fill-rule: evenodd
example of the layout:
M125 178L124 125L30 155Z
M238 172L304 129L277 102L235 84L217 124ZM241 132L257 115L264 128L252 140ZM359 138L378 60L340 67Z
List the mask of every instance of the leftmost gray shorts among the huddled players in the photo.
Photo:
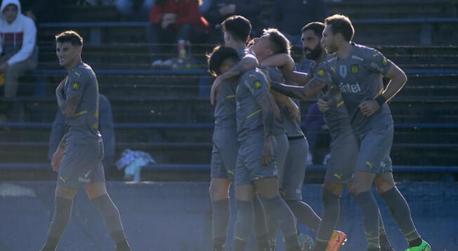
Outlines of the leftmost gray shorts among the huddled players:
M235 128L215 129L213 150L211 151L210 177L234 179L238 149L239 144Z

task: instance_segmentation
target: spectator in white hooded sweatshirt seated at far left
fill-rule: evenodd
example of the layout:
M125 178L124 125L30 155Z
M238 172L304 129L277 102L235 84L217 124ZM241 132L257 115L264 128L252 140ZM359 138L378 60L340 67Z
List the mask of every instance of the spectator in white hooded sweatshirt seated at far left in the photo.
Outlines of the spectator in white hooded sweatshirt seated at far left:
M21 13L19 0L4 0L0 7L0 74L4 74L4 96L15 97L19 76L37 67L37 27ZM0 120L7 120L11 100L4 100Z

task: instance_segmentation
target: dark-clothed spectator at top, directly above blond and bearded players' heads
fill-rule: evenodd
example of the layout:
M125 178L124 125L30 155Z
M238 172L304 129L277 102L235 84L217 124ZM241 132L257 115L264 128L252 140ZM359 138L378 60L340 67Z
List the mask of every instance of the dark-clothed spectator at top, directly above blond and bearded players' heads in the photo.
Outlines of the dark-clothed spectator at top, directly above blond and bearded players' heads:
M273 27L280 29L293 44L301 44L301 29L309 22L323 22L327 7L323 0L275 0L270 15Z

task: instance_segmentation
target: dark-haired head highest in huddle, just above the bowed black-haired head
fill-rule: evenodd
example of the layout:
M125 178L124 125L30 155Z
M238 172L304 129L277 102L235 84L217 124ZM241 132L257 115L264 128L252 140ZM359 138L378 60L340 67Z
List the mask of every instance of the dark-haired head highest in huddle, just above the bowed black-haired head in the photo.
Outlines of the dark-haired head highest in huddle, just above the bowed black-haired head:
M251 33L251 22L241 15L233 15L221 23L224 33L225 46L232 46L234 43L247 43Z

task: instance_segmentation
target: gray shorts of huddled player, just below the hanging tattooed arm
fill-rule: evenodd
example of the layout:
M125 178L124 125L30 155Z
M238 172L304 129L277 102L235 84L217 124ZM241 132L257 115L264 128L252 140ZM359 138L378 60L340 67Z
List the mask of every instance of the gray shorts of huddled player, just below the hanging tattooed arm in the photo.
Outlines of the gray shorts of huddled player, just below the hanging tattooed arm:
M262 164L264 136L263 133L254 133L247 139L240 141L240 149L235 164L235 185L253 184L253 180L278 177L277 163ZM274 151L277 154L277 143L274 140Z

